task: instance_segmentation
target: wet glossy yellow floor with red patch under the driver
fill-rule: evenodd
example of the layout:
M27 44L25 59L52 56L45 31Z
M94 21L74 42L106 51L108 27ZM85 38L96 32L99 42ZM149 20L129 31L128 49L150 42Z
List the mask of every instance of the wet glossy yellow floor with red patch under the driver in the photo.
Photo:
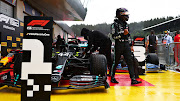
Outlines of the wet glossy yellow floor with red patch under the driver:
M119 84L85 90L53 90L51 101L180 101L180 73L162 71L140 76L143 84L130 85L128 73L116 73ZM0 88L0 101L20 101L20 89Z

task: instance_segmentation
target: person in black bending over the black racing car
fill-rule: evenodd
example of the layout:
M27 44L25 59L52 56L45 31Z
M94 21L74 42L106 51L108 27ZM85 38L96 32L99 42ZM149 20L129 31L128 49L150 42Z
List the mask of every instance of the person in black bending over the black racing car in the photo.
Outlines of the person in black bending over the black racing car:
M111 59L111 40L105 34L99 31L90 31L86 28L81 30L81 36L84 36L84 39L88 40L88 46L85 49L85 53L88 51L94 52L98 48L100 54L104 54L107 59L107 63L109 67L112 67L112 59Z

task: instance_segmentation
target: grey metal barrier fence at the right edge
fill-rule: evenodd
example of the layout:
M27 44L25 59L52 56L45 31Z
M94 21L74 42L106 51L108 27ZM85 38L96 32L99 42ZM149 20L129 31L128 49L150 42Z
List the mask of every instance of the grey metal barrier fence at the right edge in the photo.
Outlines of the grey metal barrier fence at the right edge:
M158 44L156 52L160 64L166 65L168 69L180 69L180 42Z

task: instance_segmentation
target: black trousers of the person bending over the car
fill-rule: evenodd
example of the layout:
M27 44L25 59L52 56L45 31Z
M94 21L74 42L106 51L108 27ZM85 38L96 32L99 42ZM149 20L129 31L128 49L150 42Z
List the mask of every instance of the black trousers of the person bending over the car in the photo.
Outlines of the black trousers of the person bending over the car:
M112 67L112 59L111 59L111 40L106 40L103 42L103 45L99 49L99 54L103 54L106 56L108 67Z

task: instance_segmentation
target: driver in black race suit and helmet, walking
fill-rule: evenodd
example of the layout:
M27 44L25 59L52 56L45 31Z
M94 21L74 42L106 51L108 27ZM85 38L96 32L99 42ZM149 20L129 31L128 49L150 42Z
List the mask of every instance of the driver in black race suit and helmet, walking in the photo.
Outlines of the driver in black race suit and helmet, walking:
M116 18L114 23L111 25L112 38L115 40L115 55L114 62L111 70L111 82L119 83L115 78L116 67L119 64L121 55L124 56L126 63L128 65L128 70L131 78L131 84L141 83L135 78L134 68L133 68L133 57L131 53L131 48L129 44L130 34L128 32L127 22L129 19L128 10L125 8L119 8L116 10Z

